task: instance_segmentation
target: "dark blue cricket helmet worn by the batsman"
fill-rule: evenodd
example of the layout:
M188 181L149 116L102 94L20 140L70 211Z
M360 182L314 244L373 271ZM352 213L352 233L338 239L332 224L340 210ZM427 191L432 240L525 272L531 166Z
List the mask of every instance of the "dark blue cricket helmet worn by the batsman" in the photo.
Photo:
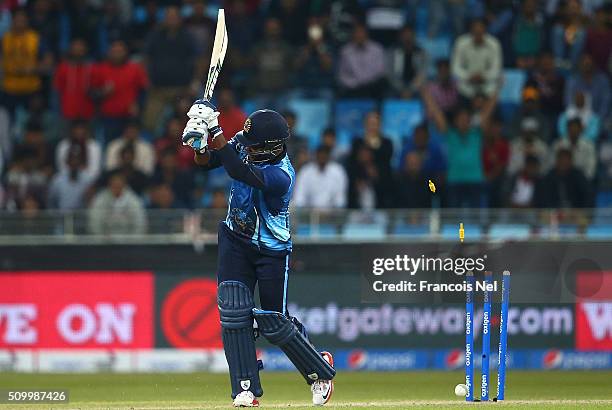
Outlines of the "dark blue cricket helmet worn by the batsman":
M289 124L274 110L257 110L246 119L236 139L247 150L247 160L260 164L274 160L284 151Z

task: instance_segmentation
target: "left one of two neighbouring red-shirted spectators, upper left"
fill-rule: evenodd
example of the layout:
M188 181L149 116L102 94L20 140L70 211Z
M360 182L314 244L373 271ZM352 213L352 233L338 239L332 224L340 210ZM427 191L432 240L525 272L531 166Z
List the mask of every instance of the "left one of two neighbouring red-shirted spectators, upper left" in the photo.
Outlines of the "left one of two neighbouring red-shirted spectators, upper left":
M93 101L89 96L93 65L86 60L87 52L85 40L72 40L68 55L57 66L53 78L62 115L68 120L90 120L94 115Z

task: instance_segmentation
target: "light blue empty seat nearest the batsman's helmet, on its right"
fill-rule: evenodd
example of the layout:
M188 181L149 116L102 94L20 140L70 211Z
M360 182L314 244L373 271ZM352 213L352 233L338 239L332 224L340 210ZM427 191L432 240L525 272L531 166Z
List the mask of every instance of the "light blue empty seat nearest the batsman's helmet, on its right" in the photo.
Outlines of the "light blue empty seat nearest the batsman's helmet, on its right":
M331 105L329 101L317 99L292 99L288 107L295 111L297 124L295 133L308 138L310 148L315 148L323 130L329 126Z

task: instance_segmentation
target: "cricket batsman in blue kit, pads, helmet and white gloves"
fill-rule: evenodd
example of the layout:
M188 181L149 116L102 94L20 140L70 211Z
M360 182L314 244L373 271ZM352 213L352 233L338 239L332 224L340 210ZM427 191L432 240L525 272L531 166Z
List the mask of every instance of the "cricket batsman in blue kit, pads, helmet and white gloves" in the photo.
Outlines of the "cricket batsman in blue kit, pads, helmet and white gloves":
M219 112L207 100L195 101L187 116L182 140L195 151L195 162L207 170L223 166L233 179L227 217L219 223L217 301L234 406L257 407L263 395L256 333L280 347L310 385L313 404L323 405L333 392L332 355L318 352L287 311L295 182L287 121L276 111L258 110L227 141ZM255 286L261 309L255 307Z

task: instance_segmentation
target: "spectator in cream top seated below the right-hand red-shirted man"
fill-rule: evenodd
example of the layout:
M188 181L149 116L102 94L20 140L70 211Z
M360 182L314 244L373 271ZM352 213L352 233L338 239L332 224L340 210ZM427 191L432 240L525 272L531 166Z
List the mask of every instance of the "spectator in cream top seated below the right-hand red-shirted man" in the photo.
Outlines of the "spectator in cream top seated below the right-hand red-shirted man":
M142 138L140 124L135 120L127 124L121 138L109 144L106 150L106 169L112 170L119 166L121 150L126 144L132 144L134 147L134 168L145 175L152 175L155 168L155 150Z

